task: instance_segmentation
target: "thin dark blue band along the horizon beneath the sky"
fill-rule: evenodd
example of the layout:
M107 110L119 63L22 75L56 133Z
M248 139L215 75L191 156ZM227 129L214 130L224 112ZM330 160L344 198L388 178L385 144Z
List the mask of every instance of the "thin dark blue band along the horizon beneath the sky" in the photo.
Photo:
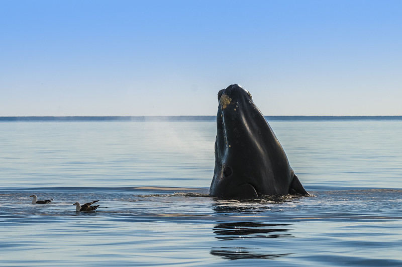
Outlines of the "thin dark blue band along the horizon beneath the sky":
M402 116L265 116L268 121L399 121ZM215 121L216 116L10 116L0 122Z

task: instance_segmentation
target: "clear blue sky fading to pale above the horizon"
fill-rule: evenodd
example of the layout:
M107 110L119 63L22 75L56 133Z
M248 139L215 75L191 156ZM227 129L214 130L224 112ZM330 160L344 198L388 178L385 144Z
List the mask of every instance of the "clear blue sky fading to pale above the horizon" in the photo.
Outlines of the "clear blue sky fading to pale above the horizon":
M0 3L0 116L402 115L400 1Z

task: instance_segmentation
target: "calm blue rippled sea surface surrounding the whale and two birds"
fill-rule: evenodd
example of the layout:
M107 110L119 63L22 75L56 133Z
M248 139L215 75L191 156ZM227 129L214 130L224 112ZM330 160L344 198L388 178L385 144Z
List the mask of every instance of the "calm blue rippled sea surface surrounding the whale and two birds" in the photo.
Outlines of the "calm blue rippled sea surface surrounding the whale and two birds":
M209 197L215 120L0 122L0 265L402 266L402 120L269 123L314 197Z

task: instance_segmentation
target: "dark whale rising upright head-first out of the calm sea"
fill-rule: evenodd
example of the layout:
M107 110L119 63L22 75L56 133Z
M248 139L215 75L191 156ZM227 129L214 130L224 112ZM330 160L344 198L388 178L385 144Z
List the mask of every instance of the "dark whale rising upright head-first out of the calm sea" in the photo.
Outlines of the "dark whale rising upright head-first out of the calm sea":
M218 93L215 170L210 196L255 199L310 194L250 93L238 84Z

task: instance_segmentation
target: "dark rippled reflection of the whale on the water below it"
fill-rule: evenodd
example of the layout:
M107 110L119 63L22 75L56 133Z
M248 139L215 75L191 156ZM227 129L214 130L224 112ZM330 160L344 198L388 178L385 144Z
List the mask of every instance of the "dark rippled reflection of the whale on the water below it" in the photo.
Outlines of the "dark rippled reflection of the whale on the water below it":
M267 223L261 215L269 214L278 203L290 202L294 196L264 196L254 200L214 198L213 210L228 218L248 217L247 221L221 222L212 230L222 246L211 248L210 254L224 259L275 259L292 253L278 253L278 238L292 238L292 224ZM263 216L263 217L265 217ZM269 217L269 216L268 216ZM266 218L268 218L266 217ZM261 243L267 246L260 247ZM269 244L269 245L268 245ZM287 251L283 251L287 252Z

